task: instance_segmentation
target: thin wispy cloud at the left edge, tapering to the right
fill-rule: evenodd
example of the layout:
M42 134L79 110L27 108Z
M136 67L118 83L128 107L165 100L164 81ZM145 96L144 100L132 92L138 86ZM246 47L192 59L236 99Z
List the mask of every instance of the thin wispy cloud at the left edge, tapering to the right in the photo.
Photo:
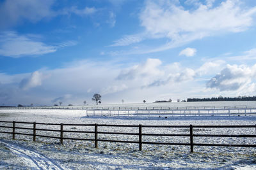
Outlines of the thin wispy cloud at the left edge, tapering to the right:
M0 34L0 55L18 58L23 55L42 55L56 52L55 46L45 45L28 36L20 36L14 31Z

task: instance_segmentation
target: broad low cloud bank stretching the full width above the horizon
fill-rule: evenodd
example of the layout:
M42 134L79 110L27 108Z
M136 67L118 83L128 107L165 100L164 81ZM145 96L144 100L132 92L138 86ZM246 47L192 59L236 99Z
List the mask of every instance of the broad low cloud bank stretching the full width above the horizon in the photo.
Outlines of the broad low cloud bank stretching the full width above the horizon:
M224 64L221 60L208 61L192 69L177 62L163 64L159 59L122 66L116 61L80 60L60 69L13 75L0 73L0 103L83 104L86 100L93 104L94 93L102 95L102 103L116 103L121 99L125 103L143 99L150 102L173 99L173 96L180 99L216 94L252 96L256 90L256 65ZM204 81L200 80L202 75Z

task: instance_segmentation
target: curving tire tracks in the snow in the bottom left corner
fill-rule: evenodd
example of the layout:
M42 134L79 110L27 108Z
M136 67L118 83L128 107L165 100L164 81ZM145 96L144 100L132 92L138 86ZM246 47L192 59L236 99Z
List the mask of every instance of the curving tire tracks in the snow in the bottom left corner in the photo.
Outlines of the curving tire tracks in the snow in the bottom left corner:
M13 153L19 155L30 168L32 169L56 169L56 170L62 170L60 166L52 162L51 159L45 157L44 155L40 153L36 153L32 150L28 150L26 148L22 148L17 145L13 145L10 143L6 143L3 141L0 141L0 143L3 143L7 148L9 148Z

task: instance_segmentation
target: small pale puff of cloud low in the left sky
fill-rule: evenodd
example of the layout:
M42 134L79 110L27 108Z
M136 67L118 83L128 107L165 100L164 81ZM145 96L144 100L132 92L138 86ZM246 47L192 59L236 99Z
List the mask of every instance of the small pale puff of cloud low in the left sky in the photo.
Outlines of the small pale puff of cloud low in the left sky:
M28 90L40 85L42 85L42 73L38 71L31 73L29 78L24 78L22 81L20 81L20 89L23 90Z

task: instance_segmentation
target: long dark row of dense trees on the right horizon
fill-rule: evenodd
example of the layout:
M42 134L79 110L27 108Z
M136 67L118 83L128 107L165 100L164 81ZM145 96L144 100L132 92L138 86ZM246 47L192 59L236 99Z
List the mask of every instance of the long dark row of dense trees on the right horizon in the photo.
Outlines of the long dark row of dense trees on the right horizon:
M256 96L188 98L187 101L256 101Z

